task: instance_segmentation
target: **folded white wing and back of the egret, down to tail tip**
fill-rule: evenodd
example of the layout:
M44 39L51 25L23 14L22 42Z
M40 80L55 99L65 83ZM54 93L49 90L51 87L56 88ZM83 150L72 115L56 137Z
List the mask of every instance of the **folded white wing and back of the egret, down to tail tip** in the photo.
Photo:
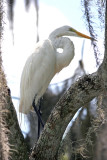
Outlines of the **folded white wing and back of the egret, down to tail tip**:
M55 74L56 56L50 40L38 43L24 66L20 83L19 110L28 112L35 94L40 98Z

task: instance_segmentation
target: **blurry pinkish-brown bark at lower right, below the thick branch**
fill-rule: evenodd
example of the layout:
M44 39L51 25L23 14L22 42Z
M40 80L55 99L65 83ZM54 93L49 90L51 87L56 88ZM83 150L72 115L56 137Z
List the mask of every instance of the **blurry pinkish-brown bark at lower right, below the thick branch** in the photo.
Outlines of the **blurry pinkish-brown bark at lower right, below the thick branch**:
M94 160L107 159L107 92L99 98L102 121L97 131Z

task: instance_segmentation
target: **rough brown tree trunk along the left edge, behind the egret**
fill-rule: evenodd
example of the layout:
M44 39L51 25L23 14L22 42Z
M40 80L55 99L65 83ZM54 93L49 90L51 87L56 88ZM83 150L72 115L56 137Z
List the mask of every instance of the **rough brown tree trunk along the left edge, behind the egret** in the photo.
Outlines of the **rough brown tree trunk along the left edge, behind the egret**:
M0 41L3 33L3 0L0 0ZM18 125L2 67L0 46L0 160L28 160L27 147Z

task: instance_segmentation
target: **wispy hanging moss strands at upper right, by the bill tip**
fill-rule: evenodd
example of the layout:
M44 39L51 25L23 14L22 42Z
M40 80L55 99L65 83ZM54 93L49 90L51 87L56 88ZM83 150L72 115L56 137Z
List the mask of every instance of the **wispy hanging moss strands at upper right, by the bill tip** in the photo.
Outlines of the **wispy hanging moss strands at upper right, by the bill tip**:
M100 55L99 48L97 45L97 39L98 34L96 33L96 27L95 25L95 17L93 16L93 3L95 1L93 0L81 0L82 6L84 8L84 17L86 19L86 24L88 27L88 30L90 32L91 37L95 39L96 41L92 40L92 45L94 49L95 59L96 59L96 65L99 66L100 60L98 56ZM100 29L104 29L104 14L105 14L105 0L96 0L95 3L97 10L96 13L98 15L98 20L100 21ZM98 25L97 25L98 27Z

